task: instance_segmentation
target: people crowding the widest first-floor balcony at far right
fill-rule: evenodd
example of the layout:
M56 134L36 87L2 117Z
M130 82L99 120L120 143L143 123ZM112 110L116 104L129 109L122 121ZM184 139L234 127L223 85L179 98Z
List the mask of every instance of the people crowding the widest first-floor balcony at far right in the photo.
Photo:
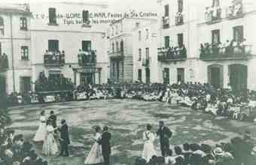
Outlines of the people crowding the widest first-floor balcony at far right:
M211 56L221 55L223 57L234 55L248 55L251 53L251 46L248 45L246 39L238 42L236 40L226 40L221 43L201 43L200 44L200 57L206 58Z

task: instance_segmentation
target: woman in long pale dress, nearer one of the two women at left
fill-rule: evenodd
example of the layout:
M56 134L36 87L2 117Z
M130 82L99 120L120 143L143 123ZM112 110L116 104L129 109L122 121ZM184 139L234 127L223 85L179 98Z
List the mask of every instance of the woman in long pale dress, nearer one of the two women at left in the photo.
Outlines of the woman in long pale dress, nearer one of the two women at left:
M54 129L52 121L47 120L47 134L44 138L43 150L42 153L46 155L54 155L58 152L58 146L56 140L54 139Z

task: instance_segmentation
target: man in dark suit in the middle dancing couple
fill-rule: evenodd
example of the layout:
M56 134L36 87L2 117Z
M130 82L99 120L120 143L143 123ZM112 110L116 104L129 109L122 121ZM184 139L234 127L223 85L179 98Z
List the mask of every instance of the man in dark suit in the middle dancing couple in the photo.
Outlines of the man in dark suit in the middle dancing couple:
M104 158L104 164L109 165L109 156L111 154L111 145L110 145L111 133L108 132L108 127L103 127L102 133L102 155Z

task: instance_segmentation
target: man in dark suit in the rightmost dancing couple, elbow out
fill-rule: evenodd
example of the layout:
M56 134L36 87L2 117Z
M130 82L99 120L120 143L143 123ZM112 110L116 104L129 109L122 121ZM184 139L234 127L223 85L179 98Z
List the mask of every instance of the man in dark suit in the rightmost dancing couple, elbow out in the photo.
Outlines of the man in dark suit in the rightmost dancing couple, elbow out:
M169 138L172 136L172 131L169 130L168 127L164 126L163 121L159 121L157 136L160 136L160 147L162 156L166 156L166 151L169 150Z

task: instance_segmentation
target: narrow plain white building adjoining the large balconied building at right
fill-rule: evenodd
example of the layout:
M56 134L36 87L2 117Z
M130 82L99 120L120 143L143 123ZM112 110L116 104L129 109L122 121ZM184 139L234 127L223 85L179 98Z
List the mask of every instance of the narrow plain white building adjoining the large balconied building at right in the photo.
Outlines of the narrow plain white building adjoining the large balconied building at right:
M133 80L159 82L157 20L133 30Z

